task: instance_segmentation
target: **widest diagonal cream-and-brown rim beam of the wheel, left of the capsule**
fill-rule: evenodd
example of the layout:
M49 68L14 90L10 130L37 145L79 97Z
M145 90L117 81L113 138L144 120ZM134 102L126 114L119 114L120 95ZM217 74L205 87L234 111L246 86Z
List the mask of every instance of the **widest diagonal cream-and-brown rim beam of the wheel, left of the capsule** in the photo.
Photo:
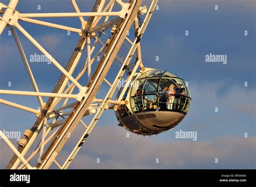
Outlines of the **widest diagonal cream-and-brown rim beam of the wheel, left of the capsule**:
M120 31L118 33L116 33L117 36L116 36L115 40L113 41L112 45L109 46L109 49L107 49L107 51L109 51L109 52L106 54L105 58L103 58L102 61L100 62L100 68L98 69L98 72L95 72L95 74L93 74L93 76L91 78L91 80L93 80L93 81L91 81L91 84L89 84L89 86L88 86L90 89L89 89L87 95L85 96L83 103L81 103L81 105L78 105L79 108L76 109L76 111L78 111L80 113L74 114L73 116L70 117L69 123L63 124L63 131L61 132L61 134L58 135L58 138L55 138L55 140L53 140L52 144L50 145L49 151L46 152L46 154L45 154L44 162L42 164L41 163L37 164L38 168L40 168L40 169L49 168L49 166L51 165L53 160L55 160L56 156L58 155L59 151L64 146L64 144L67 140L66 134L72 133L73 128L76 127L77 122L79 122L80 117L82 117L82 115L84 113L83 111L87 110L87 107L90 106L91 101L95 97L100 85L102 85L105 75L109 71L109 68L112 65L112 61L115 58L119 49L116 51L114 51L114 50L115 50L116 46L120 46L123 43L123 39L125 38L127 29L130 29L130 26L134 20L134 17L137 15L137 11L139 9L138 5L140 5L141 2L142 2L141 0L134 1L134 3L132 4L132 7L131 7L131 11L128 13L128 16L127 16L127 17L131 17L131 20L126 19L124 21L124 26L127 25L128 28L121 27ZM133 10L133 9L135 9L135 10ZM102 105L106 105L107 104L106 101L108 101L109 99L110 98L105 98ZM105 106L102 108L104 109ZM82 112L82 114L81 114L81 112ZM67 122L68 122L68 120L67 120ZM95 124L93 124L92 128L94 127ZM91 129L89 128L89 131L91 131L92 128Z

